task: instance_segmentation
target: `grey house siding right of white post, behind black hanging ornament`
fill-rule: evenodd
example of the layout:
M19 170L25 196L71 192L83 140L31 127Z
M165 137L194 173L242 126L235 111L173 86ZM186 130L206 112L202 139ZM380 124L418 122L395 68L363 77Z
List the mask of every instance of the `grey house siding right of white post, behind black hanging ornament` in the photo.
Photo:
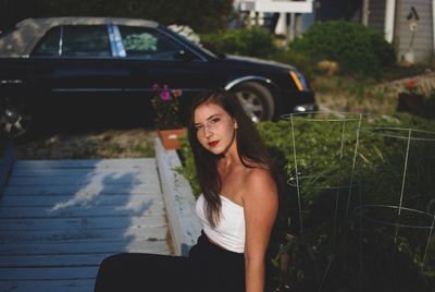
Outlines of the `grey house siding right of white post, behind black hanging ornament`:
M410 21L407 20L411 7L414 7L420 17L412 48L412 32L410 31ZM412 50L415 62L428 61L434 54L432 0L402 0L400 15L396 21L399 22L399 59L403 59L405 53Z

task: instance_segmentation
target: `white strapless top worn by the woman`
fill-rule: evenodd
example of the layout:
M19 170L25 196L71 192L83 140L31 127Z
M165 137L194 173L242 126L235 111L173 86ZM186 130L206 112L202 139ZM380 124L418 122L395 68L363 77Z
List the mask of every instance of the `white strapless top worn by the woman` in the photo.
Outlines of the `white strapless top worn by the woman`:
M196 211L201 220L206 235L221 247L235 252L245 252L245 214L244 207L227 197L220 196L222 202L221 220L212 228L206 217L206 199L198 197Z

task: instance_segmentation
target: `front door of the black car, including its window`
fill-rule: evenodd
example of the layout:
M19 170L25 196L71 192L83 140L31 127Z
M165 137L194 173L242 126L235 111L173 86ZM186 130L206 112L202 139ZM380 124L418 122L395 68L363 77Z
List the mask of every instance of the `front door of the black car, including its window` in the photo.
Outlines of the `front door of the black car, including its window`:
M192 53L171 35L153 27L117 27L125 50L125 65L129 70L125 87L128 95L149 100L153 84L182 89L182 114L186 115L191 97L217 84L212 78L213 70L209 61ZM189 53L189 57L183 57L183 53ZM148 112L152 115L152 111Z

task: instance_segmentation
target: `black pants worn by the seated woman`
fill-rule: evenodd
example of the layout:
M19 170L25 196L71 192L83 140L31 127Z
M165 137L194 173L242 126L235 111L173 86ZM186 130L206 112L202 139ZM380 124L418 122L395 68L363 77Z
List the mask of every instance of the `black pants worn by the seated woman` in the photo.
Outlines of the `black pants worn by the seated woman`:
M95 292L244 292L244 254L212 244L202 232L188 257L117 254L105 258Z

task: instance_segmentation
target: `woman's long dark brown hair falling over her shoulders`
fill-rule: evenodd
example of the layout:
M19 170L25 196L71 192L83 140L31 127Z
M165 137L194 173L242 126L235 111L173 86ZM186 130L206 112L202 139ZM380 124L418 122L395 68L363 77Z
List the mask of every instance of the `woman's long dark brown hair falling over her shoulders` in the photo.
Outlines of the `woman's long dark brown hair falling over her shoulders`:
M281 187L277 171L261 143L256 125L246 114L237 98L229 92L221 88L200 94L192 102L188 125L188 138L194 153L197 178L207 202L206 216L211 226L215 227L221 217L220 193L222 181L217 172L217 160L221 156L214 155L202 147L197 138L197 129L195 127L196 109L208 102L220 106L236 120L238 127L236 130L237 154L241 159L241 163L247 168L254 168L256 166L246 162L246 159L249 159L253 161L254 165L261 165L271 172L277 184L278 192Z

